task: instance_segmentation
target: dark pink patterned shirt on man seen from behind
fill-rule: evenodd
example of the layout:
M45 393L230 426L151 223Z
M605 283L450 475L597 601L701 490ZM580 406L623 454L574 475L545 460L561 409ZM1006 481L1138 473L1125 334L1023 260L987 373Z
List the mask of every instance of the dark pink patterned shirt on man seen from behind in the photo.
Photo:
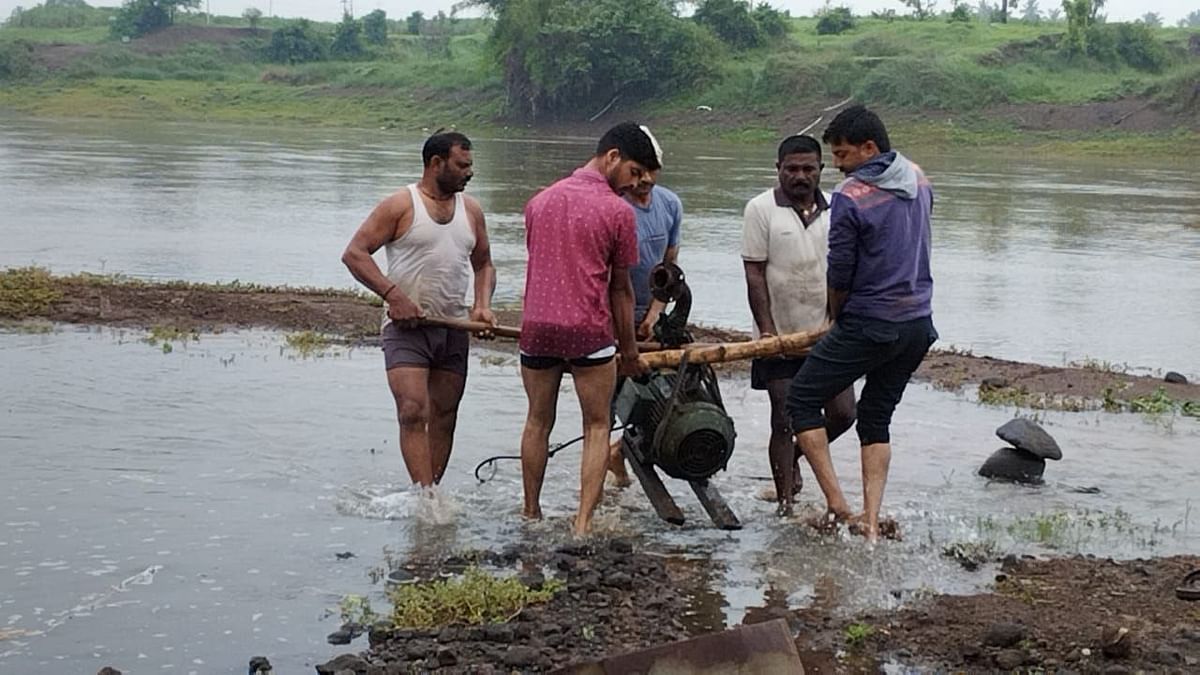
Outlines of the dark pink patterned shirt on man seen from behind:
M599 172L581 167L524 209L521 351L581 358L612 346L612 268L637 264L634 208Z

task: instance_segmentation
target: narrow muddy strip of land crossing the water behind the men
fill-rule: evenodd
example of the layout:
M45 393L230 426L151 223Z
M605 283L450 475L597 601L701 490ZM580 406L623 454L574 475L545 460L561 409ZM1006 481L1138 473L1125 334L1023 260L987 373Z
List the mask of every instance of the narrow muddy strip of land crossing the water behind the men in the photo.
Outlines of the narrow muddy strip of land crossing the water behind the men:
M116 276L56 276L36 268L0 273L0 321L112 325L160 336L239 328L298 334L298 344L336 340L373 345L382 306L365 295L334 289L244 283L145 282ZM502 324L520 325L516 309L499 309ZM749 340L738 330L697 325L701 342ZM486 347L515 352L511 341ZM746 364L731 370L744 370ZM1169 364L1164 364L1169 370ZM1200 414L1200 384L1165 382L1158 375L1127 372L1120 364L1086 362L1050 366L935 350L918 380L949 392L973 392L980 402L1033 410L1132 410Z

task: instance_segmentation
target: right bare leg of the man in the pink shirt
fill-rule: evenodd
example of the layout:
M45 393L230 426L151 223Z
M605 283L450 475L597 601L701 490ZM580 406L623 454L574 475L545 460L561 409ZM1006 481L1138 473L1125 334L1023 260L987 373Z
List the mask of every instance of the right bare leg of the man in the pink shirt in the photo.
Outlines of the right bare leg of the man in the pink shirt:
M575 534L592 528L592 512L604 492L608 465L610 406L617 383L617 362L589 368L572 368L575 393L583 413L583 459L580 462L580 512L575 516Z

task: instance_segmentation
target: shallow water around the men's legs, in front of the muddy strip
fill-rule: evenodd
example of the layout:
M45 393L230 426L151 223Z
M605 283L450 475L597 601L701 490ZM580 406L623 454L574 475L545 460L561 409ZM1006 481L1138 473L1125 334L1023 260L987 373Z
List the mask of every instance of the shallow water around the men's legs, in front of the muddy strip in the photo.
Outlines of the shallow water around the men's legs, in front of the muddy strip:
M281 671L302 673L338 651L323 638L344 593L383 604L370 573L390 557L547 544L566 532L577 450L550 465L540 526L520 522L514 462L484 485L472 476L486 456L516 452L523 411L508 357L473 363L451 503L420 519L401 488L373 350L300 359L277 334L239 333L163 353L140 338L76 327L0 334L0 671L229 673L265 653ZM1051 414L1044 422L1067 456L1050 466L1049 484L989 485L972 472L1009 411L914 387L898 416L888 492L907 539L869 551L772 515L760 498L766 401L740 380L722 389L739 436L716 482L745 530L708 527L678 484L683 528L658 521L634 490L611 496L600 518L680 566L716 563L685 591L696 626L734 623L763 605L848 611L986 583L986 569L937 555L950 542L1115 556L1200 550L1194 420ZM564 405L554 440L577 424ZM834 450L852 478L854 443ZM1057 525L1038 533L1037 522ZM346 551L356 557L338 560Z

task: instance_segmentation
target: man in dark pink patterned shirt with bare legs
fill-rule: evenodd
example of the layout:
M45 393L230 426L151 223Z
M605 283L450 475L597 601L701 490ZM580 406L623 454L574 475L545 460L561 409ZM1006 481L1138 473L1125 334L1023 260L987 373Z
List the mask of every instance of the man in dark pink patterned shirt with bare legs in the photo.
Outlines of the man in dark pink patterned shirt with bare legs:
M620 195L659 160L635 123L610 129L575 173L526 204L526 270L521 324L521 380L529 412L521 436L524 515L541 518L550 434L563 372L575 380L583 413L583 459L575 533L592 527L608 464L611 402L618 370L646 371L634 338L637 220ZM616 335L613 331L616 330ZM616 345L614 345L616 342ZM619 368L613 362L620 356Z

